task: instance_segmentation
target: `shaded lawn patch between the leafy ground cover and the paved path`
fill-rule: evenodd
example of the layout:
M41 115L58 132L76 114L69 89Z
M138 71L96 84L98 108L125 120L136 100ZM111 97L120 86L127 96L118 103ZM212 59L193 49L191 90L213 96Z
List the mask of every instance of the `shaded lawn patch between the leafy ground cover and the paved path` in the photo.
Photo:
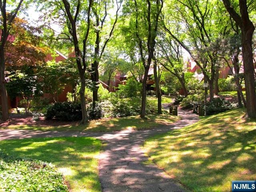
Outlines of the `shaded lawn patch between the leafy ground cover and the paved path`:
M86 137L33 138L0 141L12 156L51 162L70 184L72 192L100 192L98 159L100 140Z

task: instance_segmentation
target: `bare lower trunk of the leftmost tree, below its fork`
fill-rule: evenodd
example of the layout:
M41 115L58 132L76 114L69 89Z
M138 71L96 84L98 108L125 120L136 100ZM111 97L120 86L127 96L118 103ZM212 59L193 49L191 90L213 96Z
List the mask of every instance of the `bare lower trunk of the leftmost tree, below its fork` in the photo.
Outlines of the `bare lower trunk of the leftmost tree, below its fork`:
M5 87L4 70L5 70L4 50L0 50L0 96L1 96L1 106L2 106L2 120L6 121L9 119L9 112L8 112L8 97L7 97L6 87Z

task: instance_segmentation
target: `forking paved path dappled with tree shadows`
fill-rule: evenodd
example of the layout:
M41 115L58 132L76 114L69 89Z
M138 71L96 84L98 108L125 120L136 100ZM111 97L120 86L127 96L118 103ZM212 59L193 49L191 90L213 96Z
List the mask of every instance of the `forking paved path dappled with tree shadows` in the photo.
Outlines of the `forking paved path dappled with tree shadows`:
M90 136L107 143L100 154L99 174L103 192L186 192L155 165L145 164L147 157L141 149L144 141L153 135L179 129L198 121L198 116L180 110L179 120L171 126L152 130L124 130L110 133L41 132L29 130L0 130L0 140L12 138Z

